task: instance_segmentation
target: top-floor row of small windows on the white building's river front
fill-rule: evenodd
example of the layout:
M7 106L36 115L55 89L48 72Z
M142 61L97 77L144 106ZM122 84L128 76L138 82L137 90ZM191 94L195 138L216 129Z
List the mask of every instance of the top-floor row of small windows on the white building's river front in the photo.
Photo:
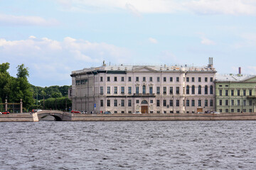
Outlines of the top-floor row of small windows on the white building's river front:
M100 81L103 81L103 77L100 77ZM110 77L107 77L107 81L110 81ZM117 77L114 77L114 81L117 81ZM124 81L124 77L121 77L121 81ZM132 81L132 77L128 77L128 81ZM139 77L135 77L135 81L139 81ZM142 77L142 81L146 81L146 77ZM149 77L149 81L153 81L153 77ZM156 77L156 81L160 82L160 77ZM167 77L163 77L163 81L167 81ZM169 81L173 82L173 77L169 77ZM176 82L180 81L180 77L176 77ZM185 81L185 79L184 79ZM186 82L195 82L195 77L186 77ZM198 82L201 82L201 77L198 77ZM205 82L208 82L208 77L204 78ZM213 77L210 77L210 82L213 82Z

